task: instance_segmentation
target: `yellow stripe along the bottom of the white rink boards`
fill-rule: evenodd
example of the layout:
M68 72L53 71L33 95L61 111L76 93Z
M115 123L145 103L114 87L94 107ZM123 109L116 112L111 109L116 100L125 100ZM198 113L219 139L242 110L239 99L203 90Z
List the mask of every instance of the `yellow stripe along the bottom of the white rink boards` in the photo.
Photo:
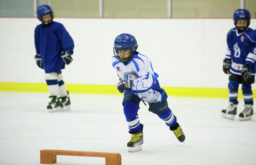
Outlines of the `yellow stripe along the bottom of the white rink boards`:
M115 85L66 84L66 86L70 93L123 95L117 91ZM168 96L228 98L226 88L163 87L163 89ZM46 83L0 82L0 91L48 92L48 88ZM256 89L252 89L252 92L255 99ZM241 89L238 90L238 98L243 98Z

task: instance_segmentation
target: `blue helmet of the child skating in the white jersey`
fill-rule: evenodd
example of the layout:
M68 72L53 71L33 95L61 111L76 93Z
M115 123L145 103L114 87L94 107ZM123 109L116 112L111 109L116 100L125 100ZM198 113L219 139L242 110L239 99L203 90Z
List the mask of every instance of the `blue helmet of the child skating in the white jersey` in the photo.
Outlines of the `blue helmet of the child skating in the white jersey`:
M138 44L135 37L128 33L122 33L115 38L113 51L119 61L128 63L136 53L137 48ZM130 50L131 56L121 59L119 50Z

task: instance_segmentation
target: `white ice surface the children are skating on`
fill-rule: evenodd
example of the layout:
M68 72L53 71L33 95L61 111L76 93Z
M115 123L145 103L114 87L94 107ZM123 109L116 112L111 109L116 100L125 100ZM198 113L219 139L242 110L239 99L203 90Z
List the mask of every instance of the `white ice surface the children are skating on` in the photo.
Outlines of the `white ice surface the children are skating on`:
M39 165L42 149L117 152L122 165L256 165L256 115L223 119L228 99L168 97L185 145L141 103L144 144L134 153L126 147L121 95L70 93L70 99L71 111L48 113L48 93L0 92L0 165ZM105 159L57 156L57 164L104 165Z

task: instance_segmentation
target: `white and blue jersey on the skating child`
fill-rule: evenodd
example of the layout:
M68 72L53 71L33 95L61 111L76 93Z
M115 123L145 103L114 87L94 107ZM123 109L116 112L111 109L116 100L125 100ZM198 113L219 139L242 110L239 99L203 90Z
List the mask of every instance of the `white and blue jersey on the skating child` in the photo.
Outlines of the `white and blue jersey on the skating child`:
M137 54L126 64L115 56L112 57L112 66L122 80L132 80L132 90L125 91L137 95L146 102L161 102L166 100L167 95L158 83L158 74L153 70L150 60L143 54Z

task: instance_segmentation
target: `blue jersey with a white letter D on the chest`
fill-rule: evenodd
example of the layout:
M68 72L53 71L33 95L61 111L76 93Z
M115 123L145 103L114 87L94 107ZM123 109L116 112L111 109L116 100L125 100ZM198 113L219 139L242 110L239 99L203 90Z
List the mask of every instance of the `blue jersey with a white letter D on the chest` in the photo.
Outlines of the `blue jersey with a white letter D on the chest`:
M227 35L228 50L226 60L232 60L230 72L241 75L243 65L251 66L251 73L256 73L256 31L248 28L238 33L236 28L231 29Z

